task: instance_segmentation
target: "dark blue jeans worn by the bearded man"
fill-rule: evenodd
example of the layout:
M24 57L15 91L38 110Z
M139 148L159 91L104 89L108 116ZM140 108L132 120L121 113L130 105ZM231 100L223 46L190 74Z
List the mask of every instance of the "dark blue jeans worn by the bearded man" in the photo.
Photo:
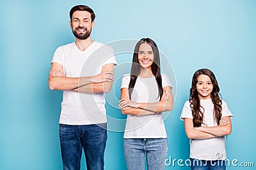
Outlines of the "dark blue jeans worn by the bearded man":
M82 150L87 169L104 169L104 152L107 140L107 124L60 124L60 146L63 169L79 170Z

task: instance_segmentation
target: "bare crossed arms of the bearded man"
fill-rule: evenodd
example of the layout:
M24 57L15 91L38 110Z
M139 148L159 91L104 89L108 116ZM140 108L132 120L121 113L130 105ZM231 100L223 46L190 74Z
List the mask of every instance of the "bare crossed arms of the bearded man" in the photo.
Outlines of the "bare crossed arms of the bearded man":
M105 64L100 74L95 76L66 77L63 67L57 62L52 62L49 73L49 88L51 90L72 90L87 94L108 93L114 80L114 64Z

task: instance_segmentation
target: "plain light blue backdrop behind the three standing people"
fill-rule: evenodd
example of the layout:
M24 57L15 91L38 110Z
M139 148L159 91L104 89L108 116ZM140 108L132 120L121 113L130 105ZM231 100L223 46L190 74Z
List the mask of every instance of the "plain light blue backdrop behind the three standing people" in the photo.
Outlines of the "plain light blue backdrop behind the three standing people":
M49 90L47 78L54 50L74 41L68 13L76 4L95 10L93 39L109 43L150 37L172 63L177 98L165 121L168 158L189 158L189 140L179 116L193 73L207 67L216 74L235 116L227 139L228 159L256 166L256 1L10 0L0 2L0 169L62 168L61 92ZM125 169L122 136L108 132L106 169ZM84 157L81 164L85 169ZM189 167L176 162L166 169Z

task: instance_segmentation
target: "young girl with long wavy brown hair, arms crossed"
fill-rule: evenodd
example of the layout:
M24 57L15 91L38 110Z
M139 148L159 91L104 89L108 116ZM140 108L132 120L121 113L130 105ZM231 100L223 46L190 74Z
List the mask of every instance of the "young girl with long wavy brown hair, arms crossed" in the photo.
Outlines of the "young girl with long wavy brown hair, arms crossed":
M227 103L220 99L218 82L209 69L193 75L189 101L180 119L190 139L191 169L226 169L225 136L231 133Z

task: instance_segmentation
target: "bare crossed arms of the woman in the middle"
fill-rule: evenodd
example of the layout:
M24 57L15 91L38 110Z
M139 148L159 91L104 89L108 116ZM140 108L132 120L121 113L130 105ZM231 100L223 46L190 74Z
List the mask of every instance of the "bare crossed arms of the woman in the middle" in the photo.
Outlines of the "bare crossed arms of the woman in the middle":
M121 100L119 107L124 115L145 116L154 115L173 108L173 96L170 86L163 88L161 101L156 103L135 103L129 99L129 90L121 89Z

